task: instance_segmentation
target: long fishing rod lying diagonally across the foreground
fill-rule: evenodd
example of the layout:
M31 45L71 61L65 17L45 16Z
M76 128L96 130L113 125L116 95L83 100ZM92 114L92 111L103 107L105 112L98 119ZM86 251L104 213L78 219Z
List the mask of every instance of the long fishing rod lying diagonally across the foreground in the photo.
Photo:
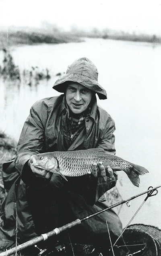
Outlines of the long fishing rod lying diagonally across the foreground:
M33 238L33 239L31 239L31 240L29 240L29 241L27 241L25 243L22 243L20 245L17 245L14 248L6 250L5 252L1 252L0 256L9 256L9 255L15 254L15 253L17 253L17 252L19 252L19 251L21 251L21 250L31 246L31 245L35 245L36 243L39 243L41 241L45 241L49 237L52 237L53 235L58 235L59 233L61 233L62 231L67 230L68 228L72 228L73 226L79 225L79 224L81 224L81 222L83 222L85 220L88 220L89 218L92 218L92 217L94 217L94 216L96 216L98 214L101 214L102 212L105 212L105 211L107 211L109 209L112 209L112 208L118 206L118 205L122 205L122 204L124 204L126 202L129 202L129 201L131 201L131 200L133 200L133 199L135 199L137 197L140 197L141 195L144 195L146 193L150 193L149 195L151 195L151 193L153 193L153 191L156 191L157 188L160 188L160 187L161 187L161 185L160 186L156 186L155 188L150 187L148 190L146 190L146 191L144 191L144 192L142 192L142 193L140 193L138 195L130 197L129 199L123 200L121 202L115 203L114 205L106 207L105 209L102 209L102 210L100 210L98 212L95 212L94 214L91 214L91 215L89 215L89 216L87 216L87 217L85 217L83 219L76 219L76 220L74 220L74 221L72 221L72 222L70 222L70 223L68 223L68 224L66 224L64 226L61 226L59 228L54 228L52 231L49 231L49 232L47 232L45 234L41 234L40 236L35 237L35 238ZM157 195L157 193L155 195ZM148 198L148 197L149 196L147 195L146 198Z

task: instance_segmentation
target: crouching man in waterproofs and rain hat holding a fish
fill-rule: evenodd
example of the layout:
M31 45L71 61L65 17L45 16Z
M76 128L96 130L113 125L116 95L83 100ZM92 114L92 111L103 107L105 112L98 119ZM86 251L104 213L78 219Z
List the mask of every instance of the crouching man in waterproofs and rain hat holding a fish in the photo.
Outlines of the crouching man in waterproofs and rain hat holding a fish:
M42 99L31 107L15 157L21 180L18 178L16 185L14 182L5 203L10 204L14 191L19 243L99 211L105 207L100 197L116 184L117 174L110 167L105 173L101 163L93 166L91 175L67 177L66 182L58 174L34 167L31 161L33 154L52 151L98 148L115 154L115 124L111 116L97 106L95 93L99 99L107 98L97 77L97 68L89 59L77 59L54 84L53 88L64 94ZM98 175L94 175L97 171ZM5 210L7 212L4 207L1 231L13 239L15 212L7 214ZM63 233L59 239L66 241L69 236L71 243L95 244L106 255L110 246L106 220L114 242L122 231L122 224L113 211L71 228L68 235ZM50 245L51 241L47 243Z

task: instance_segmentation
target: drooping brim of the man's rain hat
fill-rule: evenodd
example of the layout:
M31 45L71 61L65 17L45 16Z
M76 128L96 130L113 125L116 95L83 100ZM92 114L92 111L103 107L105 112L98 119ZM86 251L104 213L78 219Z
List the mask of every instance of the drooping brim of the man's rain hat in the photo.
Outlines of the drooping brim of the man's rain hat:
M88 76L84 76L81 74L66 74L62 78L59 78L54 83L53 89L60 93L64 93L66 91L66 82L71 81L75 83L79 83L84 87L94 91L98 94L99 99L107 99L107 93L99 83Z

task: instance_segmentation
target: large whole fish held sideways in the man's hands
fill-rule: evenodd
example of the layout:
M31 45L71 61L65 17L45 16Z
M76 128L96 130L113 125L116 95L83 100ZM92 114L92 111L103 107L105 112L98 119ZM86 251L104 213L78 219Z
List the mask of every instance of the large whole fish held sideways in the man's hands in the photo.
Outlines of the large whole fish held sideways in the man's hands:
M54 151L35 154L31 157L31 164L35 167L59 173L65 176L83 176L92 173L92 165L102 162L105 168L113 171L124 171L134 186L139 186L139 175L149 171L140 165L130 163L110 152L92 148L87 150Z

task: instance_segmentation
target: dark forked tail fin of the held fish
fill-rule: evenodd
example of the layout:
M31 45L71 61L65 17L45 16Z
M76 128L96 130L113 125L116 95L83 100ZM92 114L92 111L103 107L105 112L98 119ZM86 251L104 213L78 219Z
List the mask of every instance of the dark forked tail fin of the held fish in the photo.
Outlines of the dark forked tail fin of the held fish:
M134 165L132 166L132 169L129 173L126 173L128 175L128 178L131 180L132 184L139 187L140 178L139 175L143 175L145 173L148 173L149 171L145 169L144 167L140 165Z

